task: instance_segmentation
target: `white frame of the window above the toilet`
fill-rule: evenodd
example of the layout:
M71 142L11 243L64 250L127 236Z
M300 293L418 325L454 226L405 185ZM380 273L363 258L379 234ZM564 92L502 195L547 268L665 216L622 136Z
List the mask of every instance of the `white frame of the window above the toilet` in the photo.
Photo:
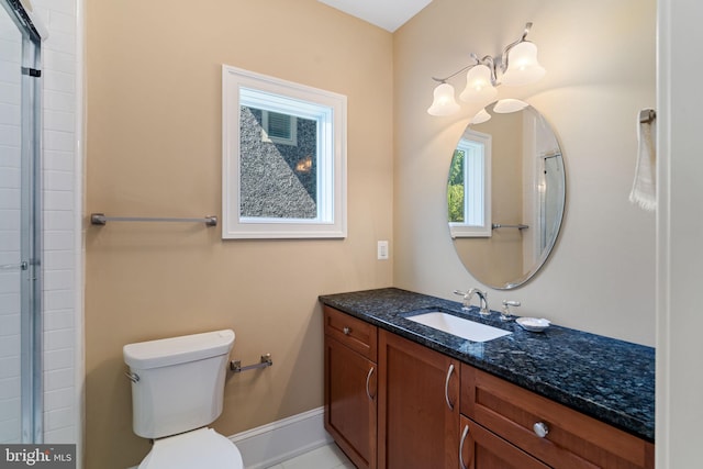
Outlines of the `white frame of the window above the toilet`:
M244 217L239 212L241 107L317 122L317 216ZM222 66L222 237L344 238L346 214L346 120L343 94Z

